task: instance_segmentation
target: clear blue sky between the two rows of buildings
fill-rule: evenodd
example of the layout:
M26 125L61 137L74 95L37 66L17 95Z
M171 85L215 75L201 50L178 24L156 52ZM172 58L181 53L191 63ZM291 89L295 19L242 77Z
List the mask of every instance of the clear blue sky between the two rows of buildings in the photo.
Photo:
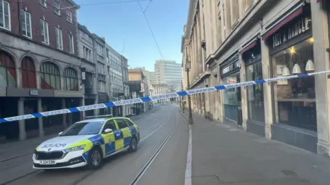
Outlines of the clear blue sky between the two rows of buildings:
M104 36L116 51L129 59L131 67L153 71L155 60L162 59L137 2L107 3L127 0L76 0L81 5L78 21L90 32ZM141 1L142 8L148 1ZM85 4L85 5L84 5ZM152 0L146 16L153 29L164 60L181 63L181 36L188 15L188 0Z

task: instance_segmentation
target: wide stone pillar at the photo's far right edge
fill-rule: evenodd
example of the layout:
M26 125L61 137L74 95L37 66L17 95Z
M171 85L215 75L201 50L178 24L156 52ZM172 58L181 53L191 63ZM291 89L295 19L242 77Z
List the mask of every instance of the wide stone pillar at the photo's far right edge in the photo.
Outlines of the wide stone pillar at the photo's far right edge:
M326 1L311 1L311 27L314 36L315 71L329 71L329 24ZM324 10L324 11L323 11ZM318 153L330 156L330 79L327 75L315 76L316 112L318 124Z

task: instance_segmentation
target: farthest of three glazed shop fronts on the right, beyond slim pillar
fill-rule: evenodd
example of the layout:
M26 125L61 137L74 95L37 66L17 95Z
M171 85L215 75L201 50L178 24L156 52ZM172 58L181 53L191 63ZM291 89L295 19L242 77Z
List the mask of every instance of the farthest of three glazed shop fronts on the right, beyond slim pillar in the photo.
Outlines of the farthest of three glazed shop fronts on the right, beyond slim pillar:
M241 82L239 74L239 53L234 53L220 64L220 74L223 85ZM225 123L242 125L241 88L222 90L223 119Z

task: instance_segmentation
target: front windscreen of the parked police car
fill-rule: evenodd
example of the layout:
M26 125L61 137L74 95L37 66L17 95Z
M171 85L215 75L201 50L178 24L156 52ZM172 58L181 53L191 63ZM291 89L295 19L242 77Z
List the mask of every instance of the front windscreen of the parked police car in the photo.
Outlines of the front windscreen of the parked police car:
M102 121L74 123L67 128L60 136L80 136L98 134L102 128Z

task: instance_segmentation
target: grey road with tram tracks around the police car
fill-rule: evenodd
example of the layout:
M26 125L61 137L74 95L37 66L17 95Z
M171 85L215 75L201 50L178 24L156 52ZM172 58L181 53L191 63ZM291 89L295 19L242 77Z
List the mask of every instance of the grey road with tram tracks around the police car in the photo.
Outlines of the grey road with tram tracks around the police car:
M158 106L157 109L135 121L141 132L141 142L135 153L113 156L96 171L36 170L32 169L31 155L25 155L0 162L0 185L184 184L188 150L186 120L178 106Z

